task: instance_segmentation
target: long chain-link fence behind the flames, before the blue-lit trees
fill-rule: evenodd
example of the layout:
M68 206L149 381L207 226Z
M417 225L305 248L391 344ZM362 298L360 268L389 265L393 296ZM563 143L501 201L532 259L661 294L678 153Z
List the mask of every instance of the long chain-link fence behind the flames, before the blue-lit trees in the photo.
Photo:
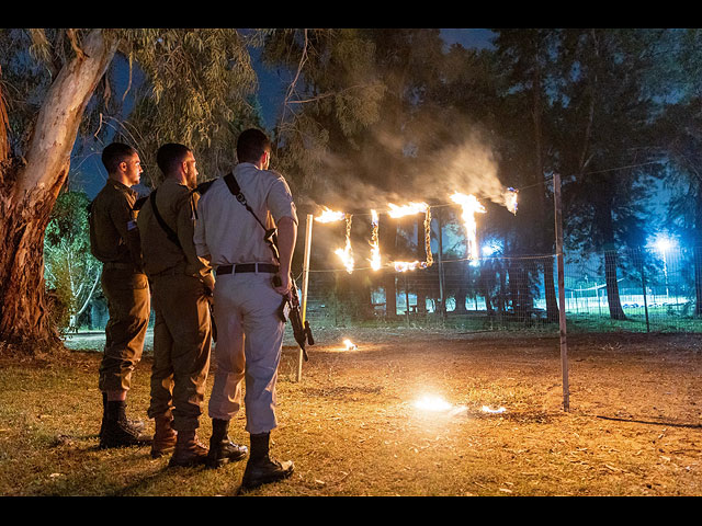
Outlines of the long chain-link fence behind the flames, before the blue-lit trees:
M568 330L701 331L700 254L699 249L566 253ZM431 266L407 272L312 268L307 319L325 328L406 324L557 333L556 270L555 255L434 258Z

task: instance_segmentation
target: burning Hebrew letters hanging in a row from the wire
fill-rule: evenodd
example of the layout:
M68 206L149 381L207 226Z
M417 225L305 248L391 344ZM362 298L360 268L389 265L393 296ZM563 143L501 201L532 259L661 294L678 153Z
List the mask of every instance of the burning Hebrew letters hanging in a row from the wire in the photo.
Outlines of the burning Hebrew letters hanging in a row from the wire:
M517 215L517 193L514 188L507 188L505 194L505 206L512 214ZM478 202L474 195L465 195L460 192L455 192L451 195L451 201L461 205L462 219L465 225L466 238L467 238L467 258L469 260L476 260L479 256L478 245L476 241L477 237L477 224L475 220L476 214L485 214L485 207ZM424 250L427 253L426 261L395 261L393 265L396 272L415 271L417 268L428 268L433 264L433 258L431 255L431 208L427 203L409 203L407 205L398 206L393 203L388 203L388 215L392 218L404 217L414 214L424 214ZM351 224L353 220L352 214L343 211L335 211L328 207L322 207L322 213L315 217L318 222L335 222L344 221L347 224L347 237L346 245L343 249L335 250L347 272L351 274L354 268L353 252L351 250ZM367 260L371 263L371 268L377 271L382 267L381 263L381 247L378 244L378 214L377 210L371 210L371 258Z

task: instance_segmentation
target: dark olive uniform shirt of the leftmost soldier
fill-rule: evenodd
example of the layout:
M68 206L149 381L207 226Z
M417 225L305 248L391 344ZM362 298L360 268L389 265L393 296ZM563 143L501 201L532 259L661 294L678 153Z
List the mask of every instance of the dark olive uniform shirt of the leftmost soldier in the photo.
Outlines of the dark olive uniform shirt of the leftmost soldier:
M138 194L113 179L90 205L90 250L103 263L132 264L141 272L141 247L134 204Z

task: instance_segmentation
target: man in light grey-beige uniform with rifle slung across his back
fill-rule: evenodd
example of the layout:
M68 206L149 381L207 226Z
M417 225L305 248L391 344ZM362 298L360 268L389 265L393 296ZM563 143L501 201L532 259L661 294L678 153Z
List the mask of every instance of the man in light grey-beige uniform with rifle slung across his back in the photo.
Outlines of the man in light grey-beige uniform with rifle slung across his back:
M214 293L217 345L215 379L208 403L213 441L226 434L244 401L250 455L242 489L284 479L293 462L269 455L270 432L276 427L275 382L284 321L279 315L291 290L291 263L297 236L295 204L283 176L268 170L271 142L248 129L237 140L239 163L233 175L251 210L268 228L278 226L280 267L264 241L264 230L217 179L201 197L195 222L197 254L216 268ZM280 286L273 277L280 276ZM246 396L241 400L242 380Z

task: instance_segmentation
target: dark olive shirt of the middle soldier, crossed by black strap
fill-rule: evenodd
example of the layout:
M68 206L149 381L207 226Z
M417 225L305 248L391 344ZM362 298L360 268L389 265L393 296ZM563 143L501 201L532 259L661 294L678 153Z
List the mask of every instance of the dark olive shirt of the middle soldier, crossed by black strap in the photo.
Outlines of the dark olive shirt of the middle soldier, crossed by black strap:
M212 285L210 265L197 256L193 244L200 194L172 179L166 179L155 192L156 207L166 225L178 235L180 248L168 239L147 199L137 218L146 273L154 277L167 271L182 271Z

